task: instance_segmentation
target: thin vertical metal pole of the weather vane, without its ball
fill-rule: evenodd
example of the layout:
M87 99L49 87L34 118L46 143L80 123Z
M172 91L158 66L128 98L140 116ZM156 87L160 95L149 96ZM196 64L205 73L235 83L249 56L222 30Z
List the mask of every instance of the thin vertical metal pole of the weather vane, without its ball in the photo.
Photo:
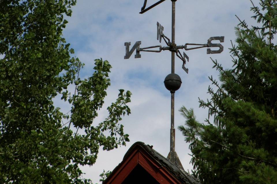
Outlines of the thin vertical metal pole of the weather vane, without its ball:
M175 1L172 1L172 30L171 41L175 44ZM171 73L175 72L175 52L171 52ZM174 129L174 93L171 91L171 128L170 128L170 151L175 151L175 129Z

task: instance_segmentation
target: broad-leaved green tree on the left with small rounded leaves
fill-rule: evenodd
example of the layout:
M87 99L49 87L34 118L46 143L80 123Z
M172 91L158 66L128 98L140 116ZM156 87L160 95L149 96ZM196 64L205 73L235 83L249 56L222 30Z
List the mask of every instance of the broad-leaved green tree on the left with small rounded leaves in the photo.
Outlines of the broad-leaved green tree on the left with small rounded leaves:
M88 183L79 166L93 165L100 146L112 150L129 141L119 121L130 114L130 91L120 89L108 117L93 124L111 65L97 59L93 75L79 77L84 64L62 37L63 16L75 3L0 1L0 183ZM59 94L70 112L54 107Z

